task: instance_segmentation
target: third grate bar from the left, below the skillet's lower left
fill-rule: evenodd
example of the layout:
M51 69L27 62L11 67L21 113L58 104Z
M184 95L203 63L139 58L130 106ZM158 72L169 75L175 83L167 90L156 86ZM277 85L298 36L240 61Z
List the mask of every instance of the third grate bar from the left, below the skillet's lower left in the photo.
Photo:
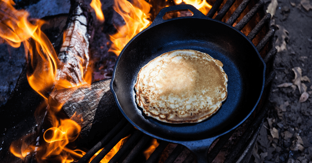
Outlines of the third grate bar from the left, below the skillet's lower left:
M122 155L130 148L130 146L136 141L143 133L139 130L135 131L134 134L128 139L126 143L118 150L118 152L110 159L108 163L117 162Z

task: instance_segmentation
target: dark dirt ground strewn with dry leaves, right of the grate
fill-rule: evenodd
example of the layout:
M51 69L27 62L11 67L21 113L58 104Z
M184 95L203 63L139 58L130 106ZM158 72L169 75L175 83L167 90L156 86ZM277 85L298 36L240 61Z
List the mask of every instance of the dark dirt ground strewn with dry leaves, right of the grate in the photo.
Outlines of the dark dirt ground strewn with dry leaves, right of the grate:
M251 162L312 163L312 6L309 0L266 1L271 11L274 4L275 86Z

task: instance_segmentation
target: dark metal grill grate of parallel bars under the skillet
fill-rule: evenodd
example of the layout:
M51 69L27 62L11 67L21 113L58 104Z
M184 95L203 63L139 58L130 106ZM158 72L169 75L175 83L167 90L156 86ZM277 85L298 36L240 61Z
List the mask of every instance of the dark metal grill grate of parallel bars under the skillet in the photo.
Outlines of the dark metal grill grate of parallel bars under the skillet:
M221 6L223 0L217 0L210 11L207 14L207 17L212 18L219 7ZM241 13L245 10L247 5L251 2L251 0L244 0L240 3L240 5L236 8L233 14L227 20L227 24L233 25L236 20L241 16ZM219 10L217 15L215 16L216 20L222 20L222 18L226 15L232 5L235 3L235 0L227 0L223 7ZM261 0L251 8L251 10L243 17L241 20L235 25L235 28L238 30L242 30L248 22L260 11L263 10L264 2ZM252 41L256 35L261 31L264 26L269 26L271 14L266 13L264 17L256 24L256 26L249 32L247 37ZM267 104L269 103L269 98L271 96L271 84L272 80L275 77L275 55L276 49L274 46L273 36L274 30L269 29L256 45L256 48L259 52L266 48L264 52L264 61L267 65L266 68L266 79L265 79L265 97L262 96L262 100L264 104L262 106L258 105L258 113L250 122L245 122L247 124L247 129L244 134L240 137L239 141L236 143L235 147L232 149L229 155L227 155L225 163L230 162L248 162L251 156L251 151L256 143L258 134L260 132L262 122L266 117L266 113L268 111ZM263 53L263 52L262 52ZM263 99L264 98L264 99ZM144 146L149 142L151 137L143 134L142 132L136 130L134 127L131 126L129 122L125 120L121 120L118 125L116 125L99 143L97 143L90 151L88 151L77 163L86 163L90 158L101 148L105 146L105 148L91 161L91 163L98 163L100 162L104 156L116 145L116 143L122 139L123 137L127 136L129 132L132 132L131 137L129 137L128 141L120 148L120 150L115 154L114 157L109 161L109 163L130 163L134 162L136 156L141 152ZM212 150L208 153L208 162L212 162L217 154L220 152L222 147L227 143L229 138L232 136L235 130L223 135L219 138L217 143L214 145ZM151 154L149 159L146 163L154 163L158 161L159 156L161 155L162 151L168 145L166 141L158 140L159 145L156 150ZM136 144L135 144L136 143ZM130 149L132 148L132 149ZM165 163L172 163L178 157L178 155L183 151L185 147L182 145L176 146L173 152L169 155ZM128 151L129 154L126 152ZM130 151L130 152L129 152ZM126 155L127 156L124 156ZM195 159L195 156L190 153L187 158L183 161L183 163L191 163ZM135 161L136 162L136 161Z

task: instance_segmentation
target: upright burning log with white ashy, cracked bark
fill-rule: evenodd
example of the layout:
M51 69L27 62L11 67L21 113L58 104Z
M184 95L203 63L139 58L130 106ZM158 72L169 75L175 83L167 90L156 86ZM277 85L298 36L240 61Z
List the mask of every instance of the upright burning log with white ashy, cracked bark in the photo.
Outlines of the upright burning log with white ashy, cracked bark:
M71 86L87 83L84 76L89 68L89 24L92 20L82 0L71 0L69 13L63 44L58 54L63 65L56 72L57 89L61 88L58 86L60 80L66 80Z

